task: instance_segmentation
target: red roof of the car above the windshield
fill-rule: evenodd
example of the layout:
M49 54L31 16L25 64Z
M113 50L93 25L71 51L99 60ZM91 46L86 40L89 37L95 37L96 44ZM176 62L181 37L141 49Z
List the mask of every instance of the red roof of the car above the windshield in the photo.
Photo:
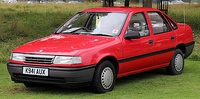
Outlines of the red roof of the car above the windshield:
M154 8L145 8L145 7L99 7L99 8L90 8L83 10L81 12L142 12L142 11L159 11Z

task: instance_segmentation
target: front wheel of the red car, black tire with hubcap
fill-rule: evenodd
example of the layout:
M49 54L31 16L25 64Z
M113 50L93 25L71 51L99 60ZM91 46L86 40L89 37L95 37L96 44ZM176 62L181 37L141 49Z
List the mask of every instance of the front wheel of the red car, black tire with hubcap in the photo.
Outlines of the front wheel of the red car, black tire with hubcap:
M116 71L110 61L101 62L94 73L92 89L95 93L112 91L116 81Z

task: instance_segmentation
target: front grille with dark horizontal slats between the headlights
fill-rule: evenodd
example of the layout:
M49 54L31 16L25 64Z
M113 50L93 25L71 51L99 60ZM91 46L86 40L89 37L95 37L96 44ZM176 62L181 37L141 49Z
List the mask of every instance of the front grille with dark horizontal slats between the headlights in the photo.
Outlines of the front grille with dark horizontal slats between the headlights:
M51 64L53 63L53 59L54 59L54 56L25 55L25 62L27 63Z

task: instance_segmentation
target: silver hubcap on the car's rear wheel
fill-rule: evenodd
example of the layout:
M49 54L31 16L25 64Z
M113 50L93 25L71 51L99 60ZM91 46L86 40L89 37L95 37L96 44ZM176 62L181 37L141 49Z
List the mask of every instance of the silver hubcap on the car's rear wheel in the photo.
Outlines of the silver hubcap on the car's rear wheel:
M181 54L177 54L175 57L175 69L178 72L183 69L183 57Z

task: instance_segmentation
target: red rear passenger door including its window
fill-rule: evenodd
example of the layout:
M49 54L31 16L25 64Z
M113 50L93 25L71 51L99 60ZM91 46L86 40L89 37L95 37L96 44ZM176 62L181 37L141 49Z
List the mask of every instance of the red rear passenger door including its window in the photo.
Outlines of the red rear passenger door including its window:
M148 12L154 35L154 66L167 66L172 59L175 47L175 33L160 12Z

